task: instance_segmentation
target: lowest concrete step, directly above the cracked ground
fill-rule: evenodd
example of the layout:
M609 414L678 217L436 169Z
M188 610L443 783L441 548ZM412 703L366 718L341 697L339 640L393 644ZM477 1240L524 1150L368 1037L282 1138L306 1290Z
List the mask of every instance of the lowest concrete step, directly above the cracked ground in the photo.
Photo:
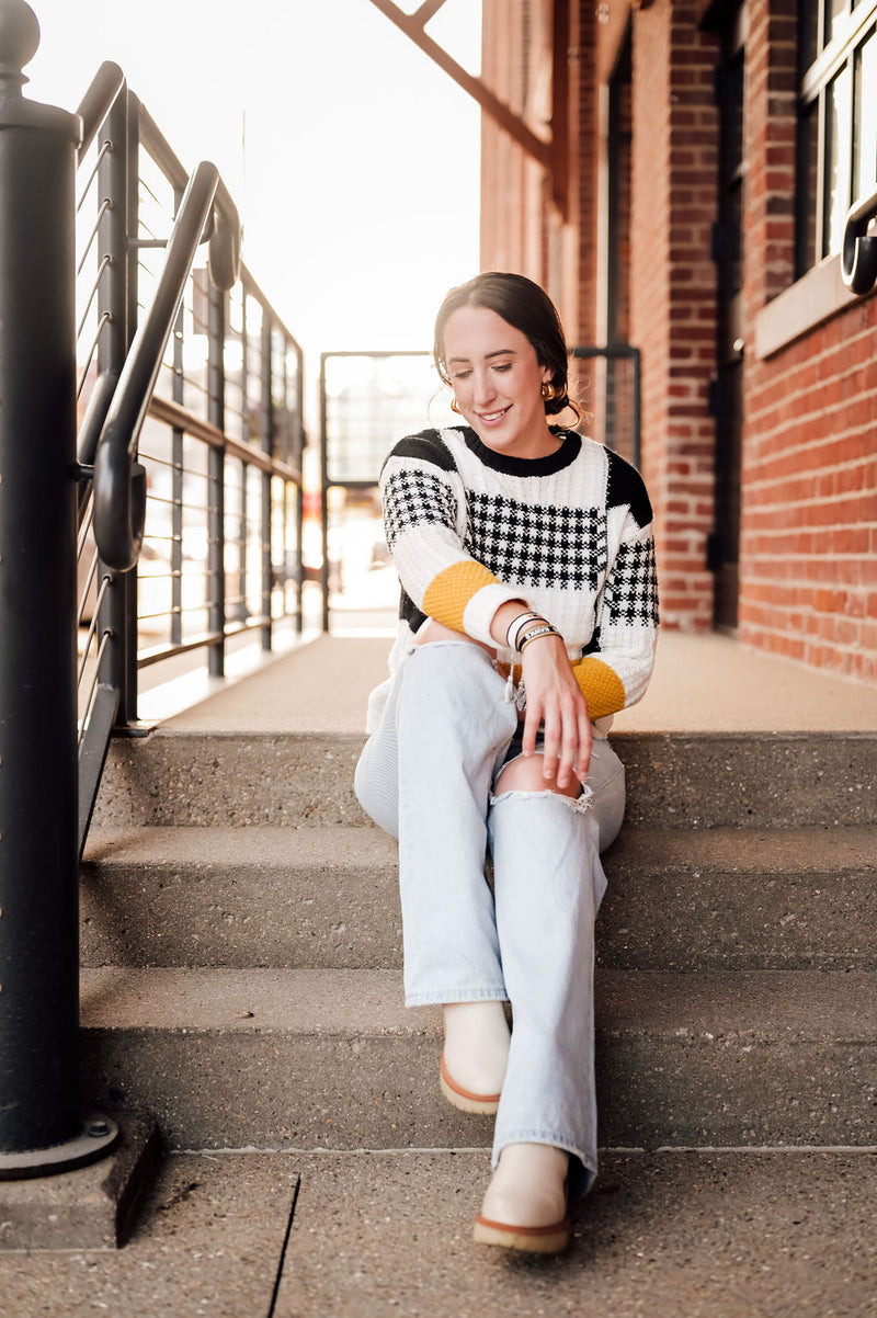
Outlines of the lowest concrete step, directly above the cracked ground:
M83 1099L173 1148L483 1144L387 970L83 971ZM602 970L600 1143L877 1144L877 974Z

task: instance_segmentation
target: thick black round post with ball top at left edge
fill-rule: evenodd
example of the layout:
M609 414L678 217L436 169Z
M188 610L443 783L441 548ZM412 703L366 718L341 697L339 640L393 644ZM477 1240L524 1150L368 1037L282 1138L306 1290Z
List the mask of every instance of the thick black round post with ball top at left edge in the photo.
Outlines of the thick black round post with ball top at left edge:
M112 1143L79 1115L78 116L28 101L40 43L0 0L0 1177ZM95 1127L92 1127L95 1130Z

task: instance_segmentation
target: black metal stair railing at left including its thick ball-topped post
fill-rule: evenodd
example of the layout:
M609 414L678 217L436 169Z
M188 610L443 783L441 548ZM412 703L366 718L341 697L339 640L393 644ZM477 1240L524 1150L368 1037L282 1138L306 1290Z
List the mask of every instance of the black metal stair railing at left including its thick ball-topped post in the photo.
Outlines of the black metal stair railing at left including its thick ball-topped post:
M26 100L38 42L0 0L0 1178L117 1136L79 1110L78 858L140 671L302 625L302 349L215 167L113 65Z

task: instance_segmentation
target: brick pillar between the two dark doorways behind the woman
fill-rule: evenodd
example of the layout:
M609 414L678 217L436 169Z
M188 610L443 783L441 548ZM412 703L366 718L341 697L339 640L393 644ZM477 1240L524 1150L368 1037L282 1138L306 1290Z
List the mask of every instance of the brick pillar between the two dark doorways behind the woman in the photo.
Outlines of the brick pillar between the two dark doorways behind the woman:
M714 38L695 0L657 0L633 22L631 340L643 353L643 473L656 513L661 619L706 630L712 576L716 217Z

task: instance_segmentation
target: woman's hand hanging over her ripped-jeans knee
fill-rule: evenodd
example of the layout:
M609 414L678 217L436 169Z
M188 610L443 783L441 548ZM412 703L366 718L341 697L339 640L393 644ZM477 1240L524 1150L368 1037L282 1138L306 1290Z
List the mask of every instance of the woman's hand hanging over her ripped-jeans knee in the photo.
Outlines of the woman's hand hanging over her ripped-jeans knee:
M558 787L566 787L573 778L583 783L591 760L591 721L561 637L532 641L521 664L527 689L524 755L533 754L541 722L544 776L553 779L557 767Z

